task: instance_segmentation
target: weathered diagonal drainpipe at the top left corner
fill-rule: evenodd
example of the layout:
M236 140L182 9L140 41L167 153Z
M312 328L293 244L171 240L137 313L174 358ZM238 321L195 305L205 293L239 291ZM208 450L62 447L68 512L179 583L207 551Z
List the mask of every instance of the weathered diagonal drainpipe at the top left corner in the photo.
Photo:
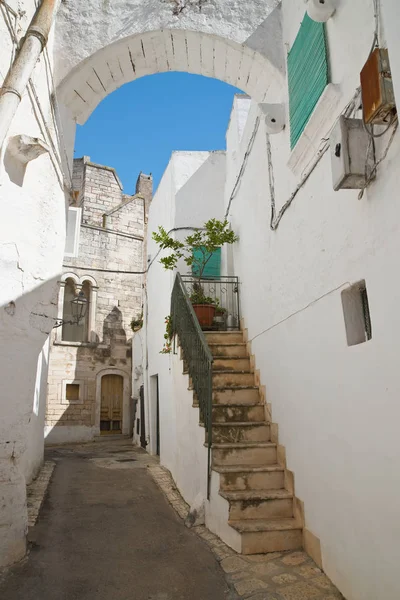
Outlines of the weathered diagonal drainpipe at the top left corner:
M36 62L47 44L58 2L59 0L42 0L0 89L0 149Z

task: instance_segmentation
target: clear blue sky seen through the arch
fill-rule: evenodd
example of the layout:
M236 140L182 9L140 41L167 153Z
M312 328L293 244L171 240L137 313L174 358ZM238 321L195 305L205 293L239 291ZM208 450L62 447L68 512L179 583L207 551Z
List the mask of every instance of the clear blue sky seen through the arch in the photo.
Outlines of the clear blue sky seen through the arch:
M140 171L154 190L173 150L223 150L236 88L188 73L142 77L101 102L78 126L75 157L114 167L126 194Z

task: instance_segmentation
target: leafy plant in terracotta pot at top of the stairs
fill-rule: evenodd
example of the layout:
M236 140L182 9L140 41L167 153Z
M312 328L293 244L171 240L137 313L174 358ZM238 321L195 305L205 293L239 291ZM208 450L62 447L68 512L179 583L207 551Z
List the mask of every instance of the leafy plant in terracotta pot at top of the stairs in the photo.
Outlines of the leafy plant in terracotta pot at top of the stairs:
M230 229L226 219L224 221L209 219L202 228L195 229L194 233L186 236L183 241L172 237L163 227L153 232L152 237L161 250L170 251L168 256L160 260L165 269L175 269L180 259L183 259L192 269L194 283L190 300L200 325L211 327L217 302L204 293L202 286L204 270L213 253L225 244L234 244L239 239L238 236Z

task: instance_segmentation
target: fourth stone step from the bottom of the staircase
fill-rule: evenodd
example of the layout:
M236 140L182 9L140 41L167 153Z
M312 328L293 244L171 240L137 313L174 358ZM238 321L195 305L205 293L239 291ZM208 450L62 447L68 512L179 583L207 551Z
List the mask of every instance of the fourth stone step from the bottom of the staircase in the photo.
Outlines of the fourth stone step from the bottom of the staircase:
M212 445L213 465L274 465L276 444L272 442L240 442Z

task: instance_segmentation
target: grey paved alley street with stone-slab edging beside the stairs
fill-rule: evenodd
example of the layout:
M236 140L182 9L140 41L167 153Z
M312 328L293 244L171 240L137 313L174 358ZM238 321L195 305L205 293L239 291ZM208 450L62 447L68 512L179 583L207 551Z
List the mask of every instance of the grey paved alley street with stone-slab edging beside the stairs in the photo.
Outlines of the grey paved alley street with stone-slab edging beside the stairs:
M342 598L303 552L239 556L186 528L169 472L127 439L50 449L28 502L30 553L1 574L0 598Z

